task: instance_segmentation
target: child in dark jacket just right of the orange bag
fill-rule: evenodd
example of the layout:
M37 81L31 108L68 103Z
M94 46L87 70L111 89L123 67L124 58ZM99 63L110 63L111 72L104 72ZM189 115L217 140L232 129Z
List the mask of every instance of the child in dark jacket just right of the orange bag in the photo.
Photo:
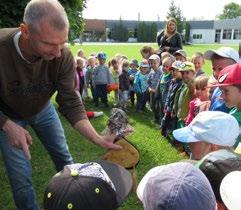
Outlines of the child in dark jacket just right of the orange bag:
M124 111L127 111L127 103L128 103L129 88L130 88L128 70L129 70L129 62L123 61L122 73L119 76L119 106Z

